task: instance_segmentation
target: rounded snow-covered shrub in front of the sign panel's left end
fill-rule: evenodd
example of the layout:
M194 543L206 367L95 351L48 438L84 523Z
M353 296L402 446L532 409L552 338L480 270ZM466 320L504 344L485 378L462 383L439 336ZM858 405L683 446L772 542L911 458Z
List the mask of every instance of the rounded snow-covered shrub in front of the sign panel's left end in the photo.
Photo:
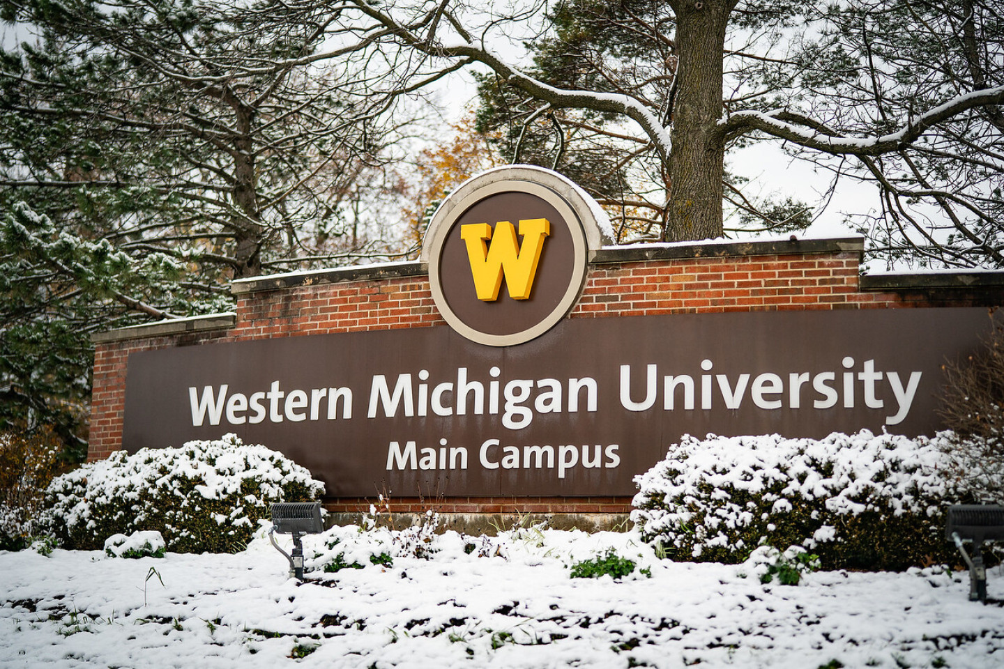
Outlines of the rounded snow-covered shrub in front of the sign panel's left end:
M111 535L154 530L169 551L234 553L272 503L311 501L323 490L281 453L227 434L112 453L55 478L46 504L53 533L69 549L100 550Z

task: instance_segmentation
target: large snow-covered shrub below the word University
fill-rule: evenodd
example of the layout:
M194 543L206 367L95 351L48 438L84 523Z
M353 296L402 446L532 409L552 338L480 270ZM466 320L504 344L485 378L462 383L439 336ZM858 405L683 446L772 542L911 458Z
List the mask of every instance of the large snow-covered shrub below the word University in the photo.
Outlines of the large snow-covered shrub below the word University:
M826 569L954 561L944 508L958 494L940 437L833 433L685 436L635 478L632 520L676 560L741 563L761 545L801 546Z

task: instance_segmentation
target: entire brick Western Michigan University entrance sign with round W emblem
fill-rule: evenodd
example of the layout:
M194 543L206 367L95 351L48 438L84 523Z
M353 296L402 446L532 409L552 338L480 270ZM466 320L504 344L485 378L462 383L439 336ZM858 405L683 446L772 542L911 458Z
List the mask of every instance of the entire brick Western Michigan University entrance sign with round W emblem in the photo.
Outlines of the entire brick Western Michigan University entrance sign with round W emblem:
M857 240L597 254L608 233L555 173L484 173L421 263L248 280L225 327L98 345L92 435L136 452L236 432L330 497L625 497L687 433L933 435L943 365L1004 323L940 306L952 291L861 292ZM994 281L961 303L999 305ZM897 306L932 308L866 308Z

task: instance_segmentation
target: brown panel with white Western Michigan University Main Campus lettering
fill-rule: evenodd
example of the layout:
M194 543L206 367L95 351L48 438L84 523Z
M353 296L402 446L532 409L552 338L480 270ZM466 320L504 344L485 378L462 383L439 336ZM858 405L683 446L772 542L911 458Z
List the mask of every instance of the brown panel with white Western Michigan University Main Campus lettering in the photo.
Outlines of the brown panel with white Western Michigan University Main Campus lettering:
M134 353L123 447L236 432L331 496L631 494L684 433L932 434L985 309L571 319L525 344L449 327Z

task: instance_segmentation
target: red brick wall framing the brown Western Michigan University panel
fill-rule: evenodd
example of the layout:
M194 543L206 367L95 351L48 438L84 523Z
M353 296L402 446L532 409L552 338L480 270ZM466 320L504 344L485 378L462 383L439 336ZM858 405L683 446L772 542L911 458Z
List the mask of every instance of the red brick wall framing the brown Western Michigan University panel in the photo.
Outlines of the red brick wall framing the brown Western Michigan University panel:
M569 318L1004 304L1004 272L861 276L862 251L859 238L606 248L593 254L585 287ZM130 353L445 323L421 263L247 279L234 282L232 290L234 313L161 321L94 336L88 459L107 457L121 447ZM369 504L326 500L333 518L354 516L351 522L357 522ZM435 508L451 518L467 519L464 522L470 521L471 527L503 518L518 521L527 514L608 519L616 525L616 519L626 518L631 499L462 497L435 504L402 499L395 505L392 511L397 514Z

